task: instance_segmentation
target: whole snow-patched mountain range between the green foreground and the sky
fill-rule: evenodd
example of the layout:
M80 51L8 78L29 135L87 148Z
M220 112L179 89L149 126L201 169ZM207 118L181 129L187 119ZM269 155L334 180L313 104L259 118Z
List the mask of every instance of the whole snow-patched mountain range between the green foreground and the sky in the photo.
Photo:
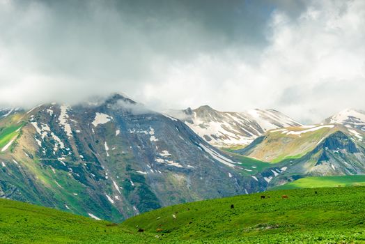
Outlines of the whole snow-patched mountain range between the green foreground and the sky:
M0 197L119 222L308 176L365 174L364 125L359 110L302 125L272 109L158 113L121 94L2 109Z

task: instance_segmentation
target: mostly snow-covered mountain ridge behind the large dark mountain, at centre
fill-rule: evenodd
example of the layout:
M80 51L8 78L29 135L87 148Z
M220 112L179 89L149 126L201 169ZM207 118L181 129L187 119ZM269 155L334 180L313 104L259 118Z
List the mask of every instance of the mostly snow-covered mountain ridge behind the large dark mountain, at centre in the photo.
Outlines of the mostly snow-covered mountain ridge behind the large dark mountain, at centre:
M184 121L206 142L217 147L247 145L267 130L300 125L272 109L219 112L205 105L197 109L170 110L166 113Z

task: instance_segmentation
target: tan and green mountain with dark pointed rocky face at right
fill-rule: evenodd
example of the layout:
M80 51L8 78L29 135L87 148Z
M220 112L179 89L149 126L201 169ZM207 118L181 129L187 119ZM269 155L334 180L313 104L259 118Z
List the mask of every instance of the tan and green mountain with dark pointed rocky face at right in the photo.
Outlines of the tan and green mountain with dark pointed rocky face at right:
M236 153L272 164L261 172L270 188L308 176L365 174L364 136L347 124L302 125L270 130Z

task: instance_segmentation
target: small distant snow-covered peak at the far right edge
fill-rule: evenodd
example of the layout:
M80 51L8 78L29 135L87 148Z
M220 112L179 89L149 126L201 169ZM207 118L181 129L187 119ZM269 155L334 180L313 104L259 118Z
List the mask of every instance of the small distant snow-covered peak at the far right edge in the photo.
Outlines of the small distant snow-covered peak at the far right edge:
M339 123L363 130L365 129L365 111L345 109L338 114L325 119L324 123Z

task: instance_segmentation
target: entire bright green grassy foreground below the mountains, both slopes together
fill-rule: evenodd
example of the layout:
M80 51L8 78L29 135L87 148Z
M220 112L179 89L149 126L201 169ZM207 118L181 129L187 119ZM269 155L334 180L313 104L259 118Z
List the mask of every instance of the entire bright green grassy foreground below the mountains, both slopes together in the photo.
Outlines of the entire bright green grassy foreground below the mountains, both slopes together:
M365 187L316 192L198 201L121 224L0 199L0 243L364 243Z

